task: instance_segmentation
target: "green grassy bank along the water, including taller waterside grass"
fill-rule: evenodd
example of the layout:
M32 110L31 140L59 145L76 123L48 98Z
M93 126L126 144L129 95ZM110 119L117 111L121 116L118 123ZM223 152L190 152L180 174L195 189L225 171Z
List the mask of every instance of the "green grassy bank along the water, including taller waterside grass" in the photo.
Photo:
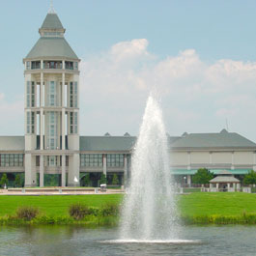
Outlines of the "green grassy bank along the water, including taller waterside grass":
M123 195L0 196L0 224L83 224L116 225L117 215L102 215L105 204L119 205ZM96 209L95 214L75 220L69 214L71 204L81 203ZM20 206L39 209L39 216L27 221L16 217ZM256 194L202 193L179 195L178 208L185 224L256 224Z

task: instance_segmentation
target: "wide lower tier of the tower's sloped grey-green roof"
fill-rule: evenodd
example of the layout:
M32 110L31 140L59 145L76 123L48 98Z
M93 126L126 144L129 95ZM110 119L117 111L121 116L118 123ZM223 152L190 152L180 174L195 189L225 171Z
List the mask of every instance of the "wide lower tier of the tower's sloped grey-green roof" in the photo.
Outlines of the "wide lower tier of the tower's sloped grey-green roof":
M26 59L40 57L66 57L78 60L78 57L65 38L40 38Z

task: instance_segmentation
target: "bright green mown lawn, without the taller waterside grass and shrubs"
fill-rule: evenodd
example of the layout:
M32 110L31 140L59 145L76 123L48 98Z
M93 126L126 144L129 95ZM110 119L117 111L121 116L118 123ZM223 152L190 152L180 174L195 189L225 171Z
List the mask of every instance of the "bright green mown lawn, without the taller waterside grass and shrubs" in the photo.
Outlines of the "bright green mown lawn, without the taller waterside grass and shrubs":
M53 196L0 196L0 216L14 214L19 206L34 206L47 215L68 215L69 206L81 202L92 207L104 203L122 202L122 194L108 195L53 195ZM194 192L179 195L178 206L184 216L256 214L256 194Z

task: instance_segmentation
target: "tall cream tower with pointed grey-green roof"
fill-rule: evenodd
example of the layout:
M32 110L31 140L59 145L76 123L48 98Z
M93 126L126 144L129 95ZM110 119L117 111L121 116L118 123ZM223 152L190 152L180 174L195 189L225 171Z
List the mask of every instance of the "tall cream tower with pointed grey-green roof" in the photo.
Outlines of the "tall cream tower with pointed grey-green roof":
M25 185L43 186L45 174L59 185L79 184L79 59L51 8L25 65ZM37 175L39 174L39 175Z

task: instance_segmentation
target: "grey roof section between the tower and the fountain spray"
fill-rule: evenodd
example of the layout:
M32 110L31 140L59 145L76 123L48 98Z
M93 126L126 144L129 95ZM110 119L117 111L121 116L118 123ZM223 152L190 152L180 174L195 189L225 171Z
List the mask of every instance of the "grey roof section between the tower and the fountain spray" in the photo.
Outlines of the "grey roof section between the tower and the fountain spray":
M135 142L133 136L80 136L80 151L129 151Z

